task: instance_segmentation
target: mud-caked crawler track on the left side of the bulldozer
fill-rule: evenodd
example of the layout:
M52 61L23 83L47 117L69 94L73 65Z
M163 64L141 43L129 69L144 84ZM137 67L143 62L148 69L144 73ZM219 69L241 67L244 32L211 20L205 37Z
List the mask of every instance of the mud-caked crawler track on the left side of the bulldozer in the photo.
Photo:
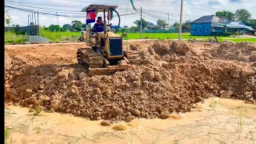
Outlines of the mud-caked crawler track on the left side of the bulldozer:
M77 51L78 64L86 64L90 68L103 67L103 56L92 49L80 48Z

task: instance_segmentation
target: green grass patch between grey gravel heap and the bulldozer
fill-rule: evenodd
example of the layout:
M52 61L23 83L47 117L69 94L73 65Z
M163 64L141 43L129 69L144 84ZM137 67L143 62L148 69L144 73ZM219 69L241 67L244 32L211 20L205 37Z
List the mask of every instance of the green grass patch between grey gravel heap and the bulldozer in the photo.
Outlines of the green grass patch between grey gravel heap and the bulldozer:
M74 37L75 41L81 36L80 32L50 32L40 29L39 34L51 42L64 41L66 38Z

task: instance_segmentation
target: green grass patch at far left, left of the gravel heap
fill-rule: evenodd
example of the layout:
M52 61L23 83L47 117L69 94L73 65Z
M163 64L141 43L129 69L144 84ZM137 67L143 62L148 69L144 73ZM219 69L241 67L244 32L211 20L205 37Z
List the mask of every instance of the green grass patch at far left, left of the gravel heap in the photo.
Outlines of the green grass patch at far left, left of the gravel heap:
M5 32L5 44L23 43L29 39L27 35L17 35L14 32Z

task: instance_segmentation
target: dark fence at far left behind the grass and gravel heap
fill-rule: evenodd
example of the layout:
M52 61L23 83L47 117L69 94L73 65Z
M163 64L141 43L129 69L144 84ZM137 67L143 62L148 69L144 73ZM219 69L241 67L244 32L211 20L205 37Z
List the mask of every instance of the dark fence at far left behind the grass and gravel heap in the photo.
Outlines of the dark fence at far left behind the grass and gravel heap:
M39 35L39 26L21 26L21 27L5 27L5 32L14 30L15 32L18 31L25 31L27 35Z

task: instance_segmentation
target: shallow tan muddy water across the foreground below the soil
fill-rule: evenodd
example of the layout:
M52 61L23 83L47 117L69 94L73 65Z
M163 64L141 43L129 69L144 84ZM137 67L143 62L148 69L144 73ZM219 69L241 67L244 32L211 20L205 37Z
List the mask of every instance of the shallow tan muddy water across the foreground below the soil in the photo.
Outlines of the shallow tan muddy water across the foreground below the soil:
M69 114L29 113L7 106L9 143L256 143L256 106L232 99L207 99L204 110L178 119L135 119L127 130L101 126ZM241 124L238 124L238 123ZM240 128L239 128L240 127Z

